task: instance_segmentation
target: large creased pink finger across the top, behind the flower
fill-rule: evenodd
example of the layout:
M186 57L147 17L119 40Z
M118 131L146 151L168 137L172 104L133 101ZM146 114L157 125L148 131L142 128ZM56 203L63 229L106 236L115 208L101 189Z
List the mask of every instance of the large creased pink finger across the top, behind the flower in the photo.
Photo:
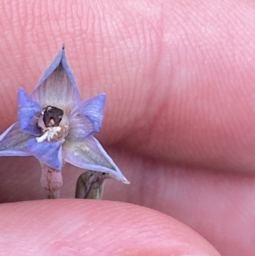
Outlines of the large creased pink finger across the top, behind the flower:
M2 131L17 118L18 87L31 93L64 42L83 98L107 95L103 142L254 172L254 3L59 4L0 4Z

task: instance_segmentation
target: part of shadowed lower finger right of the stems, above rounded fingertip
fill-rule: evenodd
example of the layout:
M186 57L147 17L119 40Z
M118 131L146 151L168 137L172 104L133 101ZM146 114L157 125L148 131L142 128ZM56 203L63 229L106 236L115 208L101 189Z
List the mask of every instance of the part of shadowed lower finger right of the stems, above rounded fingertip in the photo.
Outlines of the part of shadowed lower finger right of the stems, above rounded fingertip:
M104 199L157 209L205 237L221 255L254 255L255 177L118 158L129 186L108 181ZM131 164L132 163L132 164Z

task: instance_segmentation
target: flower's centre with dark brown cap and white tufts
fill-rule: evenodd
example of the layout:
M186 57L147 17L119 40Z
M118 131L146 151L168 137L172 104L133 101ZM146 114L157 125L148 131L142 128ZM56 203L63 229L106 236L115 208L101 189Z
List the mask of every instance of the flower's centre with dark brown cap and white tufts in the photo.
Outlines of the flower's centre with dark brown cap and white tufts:
M38 126L43 133L41 137L36 138L38 142L60 140L68 133L69 120L62 109L48 106L41 112Z

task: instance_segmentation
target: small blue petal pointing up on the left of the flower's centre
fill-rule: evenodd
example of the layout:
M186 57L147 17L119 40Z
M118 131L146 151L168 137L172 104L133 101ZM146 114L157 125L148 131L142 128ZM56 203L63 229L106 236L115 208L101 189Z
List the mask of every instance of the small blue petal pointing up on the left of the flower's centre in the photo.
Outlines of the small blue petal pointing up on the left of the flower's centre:
M37 126L36 114L40 113L43 108L36 102L33 102L23 88L18 91L18 123L25 133L34 136L40 135L40 129Z

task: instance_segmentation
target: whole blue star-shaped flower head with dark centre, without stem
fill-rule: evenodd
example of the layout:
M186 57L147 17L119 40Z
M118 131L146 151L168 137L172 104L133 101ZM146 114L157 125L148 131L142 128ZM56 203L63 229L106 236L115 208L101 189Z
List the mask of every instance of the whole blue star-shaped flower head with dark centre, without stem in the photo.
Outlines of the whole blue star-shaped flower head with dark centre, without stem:
M35 156L61 170L64 162L129 183L93 135L101 129L105 94L82 101L63 49L31 96L18 91L18 122L0 136L0 156Z

